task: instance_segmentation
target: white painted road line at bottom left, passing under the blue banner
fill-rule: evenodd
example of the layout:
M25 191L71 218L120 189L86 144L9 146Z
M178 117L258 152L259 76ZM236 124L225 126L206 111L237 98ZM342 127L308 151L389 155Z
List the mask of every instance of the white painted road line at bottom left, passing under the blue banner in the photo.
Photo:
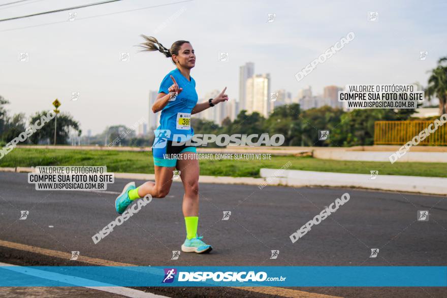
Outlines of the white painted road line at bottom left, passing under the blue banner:
M73 276L63 275L63 274L59 274L59 273L50 273L48 271L32 269L30 267L26 268L26 272L23 272L23 270L19 269L21 266L3 263L3 262L0 262L0 266L4 266L3 269L15 271L15 272L18 272L21 274L26 274L26 275L36 276L39 278L69 283L69 284L73 284L75 286L80 286L80 284L85 284L85 282L92 281L92 280L88 280L85 278L73 277ZM8 267L10 267L10 268L8 268ZM70 279L70 281L67 281L68 279ZM77 284L75 281L73 281L73 279L76 279L79 283ZM97 282L97 283L99 283L99 282ZM167 297L167 296L156 295L153 293L143 292L143 291L139 291L139 290L135 290L135 289L131 289L131 288L126 288L126 287L111 286L110 284L106 284L106 283L104 283L103 286L84 287L84 288L114 293L114 294L123 295L126 297L133 297L133 298L165 298L165 297Z

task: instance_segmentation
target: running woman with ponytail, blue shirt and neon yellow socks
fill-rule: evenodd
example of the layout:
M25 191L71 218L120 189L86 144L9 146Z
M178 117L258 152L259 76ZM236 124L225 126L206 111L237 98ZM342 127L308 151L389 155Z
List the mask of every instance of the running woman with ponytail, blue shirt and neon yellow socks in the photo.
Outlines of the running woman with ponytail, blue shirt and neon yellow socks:
M139 187L135 182L124 186L122 193L116 198L116 212L122 214L134 200L150 194L152 197L163 198L168 195L172 184L173 172L180 171L184 195L182 211L186 225L186 239L181 246L184 252L206 253L212 246L202 241L197 235L199 223L199 161L196 157L196 147L184 144L194 135L191 127L191 114L200 113L220 102L228 101L225 87L216 98L198 104L196 81L190 76L191 69L196 65L196 55L193 46L188 41L180 40L172 44L171 49L165 48L153 37L141 35L145 39L142 51L159 51L171 58L176 68L163 79L158 90L158 96L152 106L152 112L162 111L160 125L155 130L152 154L155 168L155 182L148 181ZM181 146L173 144L173 137L180 136ZM178 140L175 140L178 141ZM178 154L182 154L178 160ZM169 156L171 155L171 156ZM175 155L175 156L172 156ZM188 156L189 155L189 156Z

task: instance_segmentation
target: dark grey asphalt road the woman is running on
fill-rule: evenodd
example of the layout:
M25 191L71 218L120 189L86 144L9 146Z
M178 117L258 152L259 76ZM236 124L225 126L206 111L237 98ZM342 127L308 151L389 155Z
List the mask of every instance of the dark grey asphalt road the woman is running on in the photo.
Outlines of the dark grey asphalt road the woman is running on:
M116 179L108 191L119 193L127 182ZM445 196L221 184L201 184L199 192L199 234L214 249L171 260L185 238L181 183L94 244L91 237L117 217L116 193L37 191L27 174L0 173L0 240L138 266L447 266ZM345 205L291 242L294 231L345 192L350 195ZM19 220L21 210L29 211L26 220ZM429 221L417 221L418 210L429 210ZM231 211L229 220L222 220L225 211ZM369 257L371 248L379 249L376 258ZM279 250L277 259L270 259L271 250ZM0 261L66 262L2 246ZM346 297L447 295L444 288L295 289ZM200 289L188 290L201 295ZM223 295L222 289L207 291Z

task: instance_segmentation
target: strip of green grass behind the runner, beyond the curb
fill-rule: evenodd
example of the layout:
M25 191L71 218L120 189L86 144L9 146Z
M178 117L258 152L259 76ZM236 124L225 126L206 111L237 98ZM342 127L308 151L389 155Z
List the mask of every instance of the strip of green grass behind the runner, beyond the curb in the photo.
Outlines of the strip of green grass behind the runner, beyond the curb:
M312 157L272 156L270 160L200 160L200 174L211 176L259 177L261 168L279 169L290 161L290 170L447 177L445 163L375 162L325 160ZM108 172L154 173L152 153L133 151L26 149L16 148L0 159L0 167L38 165L106 165Z

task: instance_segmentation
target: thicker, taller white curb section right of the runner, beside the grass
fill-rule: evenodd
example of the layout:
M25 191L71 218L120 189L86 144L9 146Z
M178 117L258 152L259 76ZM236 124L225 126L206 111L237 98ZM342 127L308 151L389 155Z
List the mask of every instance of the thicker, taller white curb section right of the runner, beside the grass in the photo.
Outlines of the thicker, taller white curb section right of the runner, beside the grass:
M368 174L346 174L297 170L261 169L261 177L271 184L286 186L335 186L368 189L447 194L447 178L380 175L371 180Z

